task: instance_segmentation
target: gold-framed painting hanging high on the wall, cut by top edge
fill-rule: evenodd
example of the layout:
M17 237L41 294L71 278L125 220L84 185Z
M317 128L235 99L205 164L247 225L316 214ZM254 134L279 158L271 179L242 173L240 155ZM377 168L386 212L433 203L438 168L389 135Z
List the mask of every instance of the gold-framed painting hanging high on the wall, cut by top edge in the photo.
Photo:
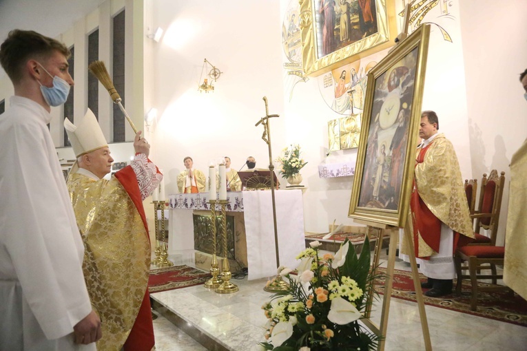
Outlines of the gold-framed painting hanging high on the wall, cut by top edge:
M318 76L394 45L395 3L387 0L300 0L302 68Z

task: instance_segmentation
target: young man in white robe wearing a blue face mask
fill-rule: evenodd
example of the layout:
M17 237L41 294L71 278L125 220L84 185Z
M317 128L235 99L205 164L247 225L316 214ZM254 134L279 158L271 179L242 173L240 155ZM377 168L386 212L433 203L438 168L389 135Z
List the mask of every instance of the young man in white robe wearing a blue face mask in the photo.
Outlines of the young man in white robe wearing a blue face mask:
M0 115L0 350L95 350L101 338L48 129L50 106L62 105L73 85L69 56L33 31L12 30L0 46L14 86Z

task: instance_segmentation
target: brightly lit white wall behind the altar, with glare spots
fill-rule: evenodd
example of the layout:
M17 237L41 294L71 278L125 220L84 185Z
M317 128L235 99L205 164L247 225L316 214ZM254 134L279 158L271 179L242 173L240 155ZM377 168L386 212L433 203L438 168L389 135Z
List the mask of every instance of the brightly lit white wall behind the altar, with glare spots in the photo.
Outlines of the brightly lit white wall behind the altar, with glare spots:
M278 2L156 0L146 6L145 27L165 30L159 43L145 45L152 60L145 67L145 109L158 109L149 138L167 193L178 192L185 156L202 171L223 156L235 169L247 156L267 168L263 129L254 126L265 116L263 96L269 114L281 115L270 122L275 153L285 138ZM204 58L223 72L214 93L198 92Z

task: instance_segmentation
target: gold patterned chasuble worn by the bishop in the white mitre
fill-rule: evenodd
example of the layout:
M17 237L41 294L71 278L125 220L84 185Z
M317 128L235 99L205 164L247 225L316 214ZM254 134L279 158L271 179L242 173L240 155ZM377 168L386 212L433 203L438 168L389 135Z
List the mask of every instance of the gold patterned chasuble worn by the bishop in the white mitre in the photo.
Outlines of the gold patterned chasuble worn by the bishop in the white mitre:
M83 237L83 270L102 321L98 350L121 350L145 296L150 245L145 225L115 177L92 180L74 173L68 189Z

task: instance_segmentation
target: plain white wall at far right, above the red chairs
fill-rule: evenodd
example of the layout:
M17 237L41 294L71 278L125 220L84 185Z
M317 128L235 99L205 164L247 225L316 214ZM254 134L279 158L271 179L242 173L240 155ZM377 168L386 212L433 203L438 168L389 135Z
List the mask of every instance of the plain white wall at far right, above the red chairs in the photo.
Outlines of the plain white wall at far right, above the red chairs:
M527 105L519 73L527 68L527 1L459 1L472 174L481 182L491 169L504 171L499 220L503 244L510 158L526 138Z

